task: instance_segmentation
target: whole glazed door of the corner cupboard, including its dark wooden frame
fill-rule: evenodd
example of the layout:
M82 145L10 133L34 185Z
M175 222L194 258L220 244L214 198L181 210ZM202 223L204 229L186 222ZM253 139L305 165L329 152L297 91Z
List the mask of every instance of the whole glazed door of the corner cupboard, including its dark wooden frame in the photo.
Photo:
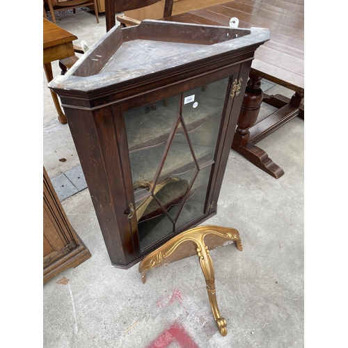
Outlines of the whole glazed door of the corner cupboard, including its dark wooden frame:
M122 219L132 223L136 258L216 214L238 118L230 94L239 70L236 64L206 72L175 91L149 91L113 106L113 115L122 113L115 121L124 125L120 148L128 150L120 162L122 176L132 179L126 195L133 209Z

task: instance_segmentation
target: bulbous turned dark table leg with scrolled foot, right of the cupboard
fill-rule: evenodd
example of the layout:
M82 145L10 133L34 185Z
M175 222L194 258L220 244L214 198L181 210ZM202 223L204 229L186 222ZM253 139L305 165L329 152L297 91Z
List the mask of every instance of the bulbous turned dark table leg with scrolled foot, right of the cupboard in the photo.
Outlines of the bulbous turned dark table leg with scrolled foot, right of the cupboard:
M272 161L267 152L255 146L250 138L249 129L255 125L260 111L263 93L261 86L261 77L250 74L246 84L246 90L242 102L242 108L239 113L237 129L232 142L232 149L239 152L248 161L262 169L276 179L284 175L284 171Z

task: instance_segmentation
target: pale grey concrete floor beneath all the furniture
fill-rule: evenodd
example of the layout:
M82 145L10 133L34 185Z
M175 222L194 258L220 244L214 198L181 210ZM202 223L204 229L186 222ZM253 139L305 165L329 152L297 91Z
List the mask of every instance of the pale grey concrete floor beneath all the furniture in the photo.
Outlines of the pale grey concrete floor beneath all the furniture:
M89 46L106 33L103 14L100 24L88 12L61 15L57 24ZM58 63L53 68L58 75ZM45 74L43 95L43 164L54 180L78 167L79 158ZM271 111L262 105L263 115ZM303 347L303 129L295 118L258 143L285 171L279 180L230 151L218 214L206 221L237 228L244 248L211 251L226 337L214 324L196 256L149 271L145 285L138 264L111 267L88 189L81 189L62 205L92 257L44 285L44 347ZM64 277L68 283L58 283Z

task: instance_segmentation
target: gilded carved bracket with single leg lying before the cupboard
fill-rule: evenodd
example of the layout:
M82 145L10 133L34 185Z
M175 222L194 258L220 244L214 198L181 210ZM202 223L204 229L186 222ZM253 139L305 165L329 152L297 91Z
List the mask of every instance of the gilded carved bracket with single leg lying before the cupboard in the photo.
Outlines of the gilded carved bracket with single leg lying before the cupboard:
M200 268L203 271L205 283L207 284L207 293L209 303L212 308L215 323L221 335L227 335L226 320L220 315L219 306L216 301L215 274L212 258L209 255L209 248L226 244L226 239L235 242L239 251L243 250L242 241L239 232L235 228L226 228L219 226L198 226L180 233L166 242L164 245L152 251L145 256L139 264L139 272L143 283L146 281L146 272L155 267L159 267L169 262L181 260L188 256L198 255ZM225 243L221 244L221 241ZM189 242L189 243L187 243ZM194 246L194 248L192 248ZM192 252L192 249L194 252Z

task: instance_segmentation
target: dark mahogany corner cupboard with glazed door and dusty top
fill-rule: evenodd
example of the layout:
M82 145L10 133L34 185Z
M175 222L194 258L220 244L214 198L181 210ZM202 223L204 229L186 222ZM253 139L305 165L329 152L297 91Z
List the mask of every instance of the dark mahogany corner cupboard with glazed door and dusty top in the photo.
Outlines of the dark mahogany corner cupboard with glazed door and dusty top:
M111 264L128 268L216 214L242 99L268 29L113 27L61 98Z

